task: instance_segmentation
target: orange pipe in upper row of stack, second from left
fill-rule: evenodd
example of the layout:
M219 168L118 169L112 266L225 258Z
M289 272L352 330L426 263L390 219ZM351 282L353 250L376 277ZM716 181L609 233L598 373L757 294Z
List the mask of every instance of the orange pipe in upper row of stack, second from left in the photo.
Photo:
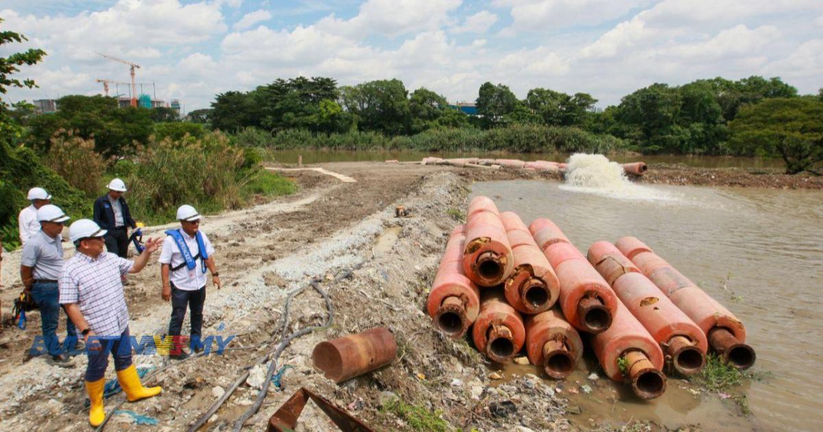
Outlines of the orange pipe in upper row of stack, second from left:
M551 264L537 248L532 234L517 214L500 213L514 257L514 272L505 281L509 304L523 314L550 309L560 296L560 282Z

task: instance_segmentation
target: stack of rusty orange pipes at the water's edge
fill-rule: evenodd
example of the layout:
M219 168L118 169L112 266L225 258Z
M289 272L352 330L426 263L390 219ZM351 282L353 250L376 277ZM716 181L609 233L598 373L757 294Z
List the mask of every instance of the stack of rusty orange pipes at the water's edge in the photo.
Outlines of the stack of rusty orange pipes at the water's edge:
M608 377L643 399L665 392L664 370L700 372L709 348L740 369L755 360L742 323L638 239L584 256L552 221L527 227L488 197L449 236L426 308L445 336L470 332L498 363L524 351L555 379L575 369L589 333Z

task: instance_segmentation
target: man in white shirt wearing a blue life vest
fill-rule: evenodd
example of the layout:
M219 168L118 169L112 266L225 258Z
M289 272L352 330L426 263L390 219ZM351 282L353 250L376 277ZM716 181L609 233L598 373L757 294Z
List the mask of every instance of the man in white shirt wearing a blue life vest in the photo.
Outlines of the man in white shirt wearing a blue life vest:
M206 301L206 269L212 274L212 283L220 289L220 273L214 263L214 247L206 233L200 230L200 214L185 204L177 209L179 230L168 230L160 251L160 278L163 281L163 300L171 300L169 335L180 336L186 308L191 311L190 347L202 350L203 303ZM188 353L181 349L170 357L183 360Z

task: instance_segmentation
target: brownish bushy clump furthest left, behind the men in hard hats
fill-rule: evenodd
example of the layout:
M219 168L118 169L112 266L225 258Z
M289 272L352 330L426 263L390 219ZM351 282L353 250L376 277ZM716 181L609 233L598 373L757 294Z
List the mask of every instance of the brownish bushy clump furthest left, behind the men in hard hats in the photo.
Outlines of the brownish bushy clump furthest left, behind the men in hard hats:
M54 132L45 161L72 188L80 189L87 197L94 197L98 192L105 160L95 153L93 139L86 140L63 129Z

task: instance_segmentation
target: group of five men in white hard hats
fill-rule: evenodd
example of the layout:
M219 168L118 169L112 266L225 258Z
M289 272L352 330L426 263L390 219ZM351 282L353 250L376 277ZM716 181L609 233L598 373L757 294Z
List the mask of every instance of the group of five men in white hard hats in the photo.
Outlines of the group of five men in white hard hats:
M26 295L40 309L40 320L49 361L68 366L68 353L86 351L86 392L91 401L89 421L97 426L105 419L103 393L109 353L128 401L160 393L160 387L144 388L132 361L128 306L123 283L128 273L140 272L152 253L160 249L160 296L171 301L168 335L179 337L186 309L190 311L189 352L202 351L202 309L206 300L206 272L220 289L220 275L207 235L199 229L201 216L190 206L177 210L180 228L165 231L165 239L147 239L133 260L128 256L128 230L137 227L123 198L126 185L113 179L109 191L95 200L94 220L80 219L68 227L76 249L64 259L63 227L71 219L50 203L43 188L31 188L29 207L20 212L21 279ZM66 338L57 336L60 309L67 315ZM78 333L81 337L78 337ZM190 354L182 347L170 357L183 360Z

